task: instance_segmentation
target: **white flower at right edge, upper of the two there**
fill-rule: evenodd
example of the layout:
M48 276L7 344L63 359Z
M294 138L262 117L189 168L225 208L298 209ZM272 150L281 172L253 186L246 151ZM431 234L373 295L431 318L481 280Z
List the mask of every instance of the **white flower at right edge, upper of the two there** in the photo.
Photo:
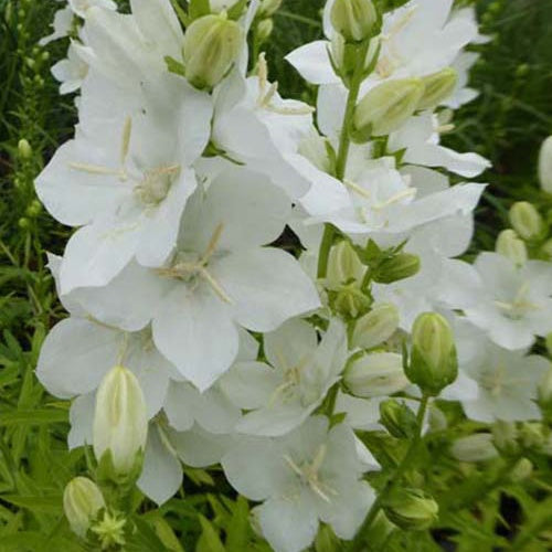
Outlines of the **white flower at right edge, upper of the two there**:
M481 253L474 266L447 261L440 299L509 350L523 349L552 331L552 265L516 265L498 253Z

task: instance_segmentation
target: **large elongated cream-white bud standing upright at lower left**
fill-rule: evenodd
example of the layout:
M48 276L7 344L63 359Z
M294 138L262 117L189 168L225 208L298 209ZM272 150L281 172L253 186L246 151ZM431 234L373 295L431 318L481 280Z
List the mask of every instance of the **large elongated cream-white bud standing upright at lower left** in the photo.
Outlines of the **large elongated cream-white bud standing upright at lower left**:
M130 370L115 367L96 396L93 442L98 461L108 450L117 475L130 474L146 448L148 417L140 384Z

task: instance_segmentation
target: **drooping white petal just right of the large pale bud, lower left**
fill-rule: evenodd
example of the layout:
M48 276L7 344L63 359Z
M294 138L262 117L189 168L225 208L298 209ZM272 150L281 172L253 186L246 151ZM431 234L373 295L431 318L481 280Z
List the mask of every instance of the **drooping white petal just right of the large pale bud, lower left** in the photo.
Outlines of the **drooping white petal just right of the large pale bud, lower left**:
M158 505L174 496L182 485L180 460L162 442L159 431L150 425L138 488Z

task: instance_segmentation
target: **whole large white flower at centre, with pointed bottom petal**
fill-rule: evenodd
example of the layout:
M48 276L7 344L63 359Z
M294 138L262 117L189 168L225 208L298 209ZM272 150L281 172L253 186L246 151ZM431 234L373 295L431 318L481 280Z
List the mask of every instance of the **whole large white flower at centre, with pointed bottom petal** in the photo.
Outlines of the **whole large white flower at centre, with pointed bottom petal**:
M138 330L152 320L158 349L203 391L236 358L240 326L272 331L320 305L289 254L262 247L279 236L289 208L261 174L226 171L190 200L169 263L130 263L107 287L74 294L106 323Z

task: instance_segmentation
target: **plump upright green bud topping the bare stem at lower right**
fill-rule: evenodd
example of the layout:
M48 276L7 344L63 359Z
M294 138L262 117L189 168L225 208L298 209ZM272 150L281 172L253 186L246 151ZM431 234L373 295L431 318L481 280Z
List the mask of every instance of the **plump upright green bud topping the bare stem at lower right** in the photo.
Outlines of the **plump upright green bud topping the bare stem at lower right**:
M436 312L424 312L416 318L406 375L429 395L438 395L456 380L458 358L446 318Z

